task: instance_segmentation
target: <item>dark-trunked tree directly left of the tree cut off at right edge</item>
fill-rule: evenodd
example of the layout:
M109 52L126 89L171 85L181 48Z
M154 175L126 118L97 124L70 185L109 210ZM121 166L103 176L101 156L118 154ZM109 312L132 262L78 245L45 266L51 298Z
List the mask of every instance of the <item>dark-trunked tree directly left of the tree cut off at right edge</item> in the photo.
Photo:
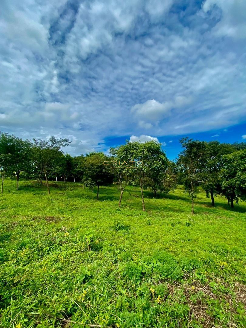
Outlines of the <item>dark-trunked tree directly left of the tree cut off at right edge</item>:
M222 156L230 154L234 151L234 146L218 141L210 141L206 143L206 151L204 153L204 161L202 167L202 187L206 192L206 196L211 196L211 205L215 205L214 196L221 193L221 186L218 174L222 167Z

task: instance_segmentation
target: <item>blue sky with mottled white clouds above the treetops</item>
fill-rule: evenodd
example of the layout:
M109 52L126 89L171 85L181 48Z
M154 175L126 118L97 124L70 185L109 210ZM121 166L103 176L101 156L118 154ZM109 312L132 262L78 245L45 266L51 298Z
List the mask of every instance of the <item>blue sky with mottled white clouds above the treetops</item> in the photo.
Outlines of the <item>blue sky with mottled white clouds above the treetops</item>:
M68 152L246 139L245 0L1 0L0 130Z

